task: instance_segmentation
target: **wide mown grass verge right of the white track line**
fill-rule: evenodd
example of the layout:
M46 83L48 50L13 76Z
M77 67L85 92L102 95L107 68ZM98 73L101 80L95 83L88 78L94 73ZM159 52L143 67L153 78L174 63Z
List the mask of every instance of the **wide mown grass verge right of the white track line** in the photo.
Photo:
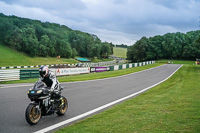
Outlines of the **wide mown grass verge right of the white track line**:
M200 66L184 65L169 80L56 133L200 132Z

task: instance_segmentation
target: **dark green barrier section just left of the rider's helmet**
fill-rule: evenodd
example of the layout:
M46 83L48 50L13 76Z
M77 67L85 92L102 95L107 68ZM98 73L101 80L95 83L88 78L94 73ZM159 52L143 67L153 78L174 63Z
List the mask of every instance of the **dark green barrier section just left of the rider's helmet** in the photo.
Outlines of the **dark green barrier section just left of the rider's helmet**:
M38 69L20 69L20 80L30 79L30 78L39 78L39 70Z

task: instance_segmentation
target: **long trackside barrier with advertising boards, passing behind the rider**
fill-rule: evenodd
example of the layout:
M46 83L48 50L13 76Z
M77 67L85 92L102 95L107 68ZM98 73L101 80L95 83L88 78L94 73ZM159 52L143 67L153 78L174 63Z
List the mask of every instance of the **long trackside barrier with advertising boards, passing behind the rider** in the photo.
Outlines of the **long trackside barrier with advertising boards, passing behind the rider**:
M51 69L55 72L56 76L74 75L90 72L103 72L103 71L116 71L121 69L133 68L153 64L155 61L146 61L138 63L129 63L114 66L93 66L93 67L81 67L81 68L57 68ZM10 80L23 80L30 78L39 78L38 69L12 69L12 70L0 70L0 82Z

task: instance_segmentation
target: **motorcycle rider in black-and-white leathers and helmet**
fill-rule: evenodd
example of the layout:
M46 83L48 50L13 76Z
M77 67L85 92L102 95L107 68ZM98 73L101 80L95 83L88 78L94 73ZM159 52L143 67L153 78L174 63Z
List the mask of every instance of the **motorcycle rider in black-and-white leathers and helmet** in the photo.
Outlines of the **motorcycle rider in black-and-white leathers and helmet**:
M56 78L56 75L49 70L47 66L41 66L39 69L40 77L39 80L44 82L48 88L50 88L50 92L55 94L56 98L60 98L60 83Z

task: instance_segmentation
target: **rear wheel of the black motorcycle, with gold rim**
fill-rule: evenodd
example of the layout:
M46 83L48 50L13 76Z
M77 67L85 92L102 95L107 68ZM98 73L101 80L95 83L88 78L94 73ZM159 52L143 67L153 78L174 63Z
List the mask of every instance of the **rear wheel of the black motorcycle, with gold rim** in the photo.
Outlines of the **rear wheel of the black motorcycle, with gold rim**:
M62 96L60 98L60 106L59 106L59 110L57 112L57 115L59 116L62 116L62 115L65 115L65 113L67 112L67 109L68 109L68 102L67 102L67 99Z

